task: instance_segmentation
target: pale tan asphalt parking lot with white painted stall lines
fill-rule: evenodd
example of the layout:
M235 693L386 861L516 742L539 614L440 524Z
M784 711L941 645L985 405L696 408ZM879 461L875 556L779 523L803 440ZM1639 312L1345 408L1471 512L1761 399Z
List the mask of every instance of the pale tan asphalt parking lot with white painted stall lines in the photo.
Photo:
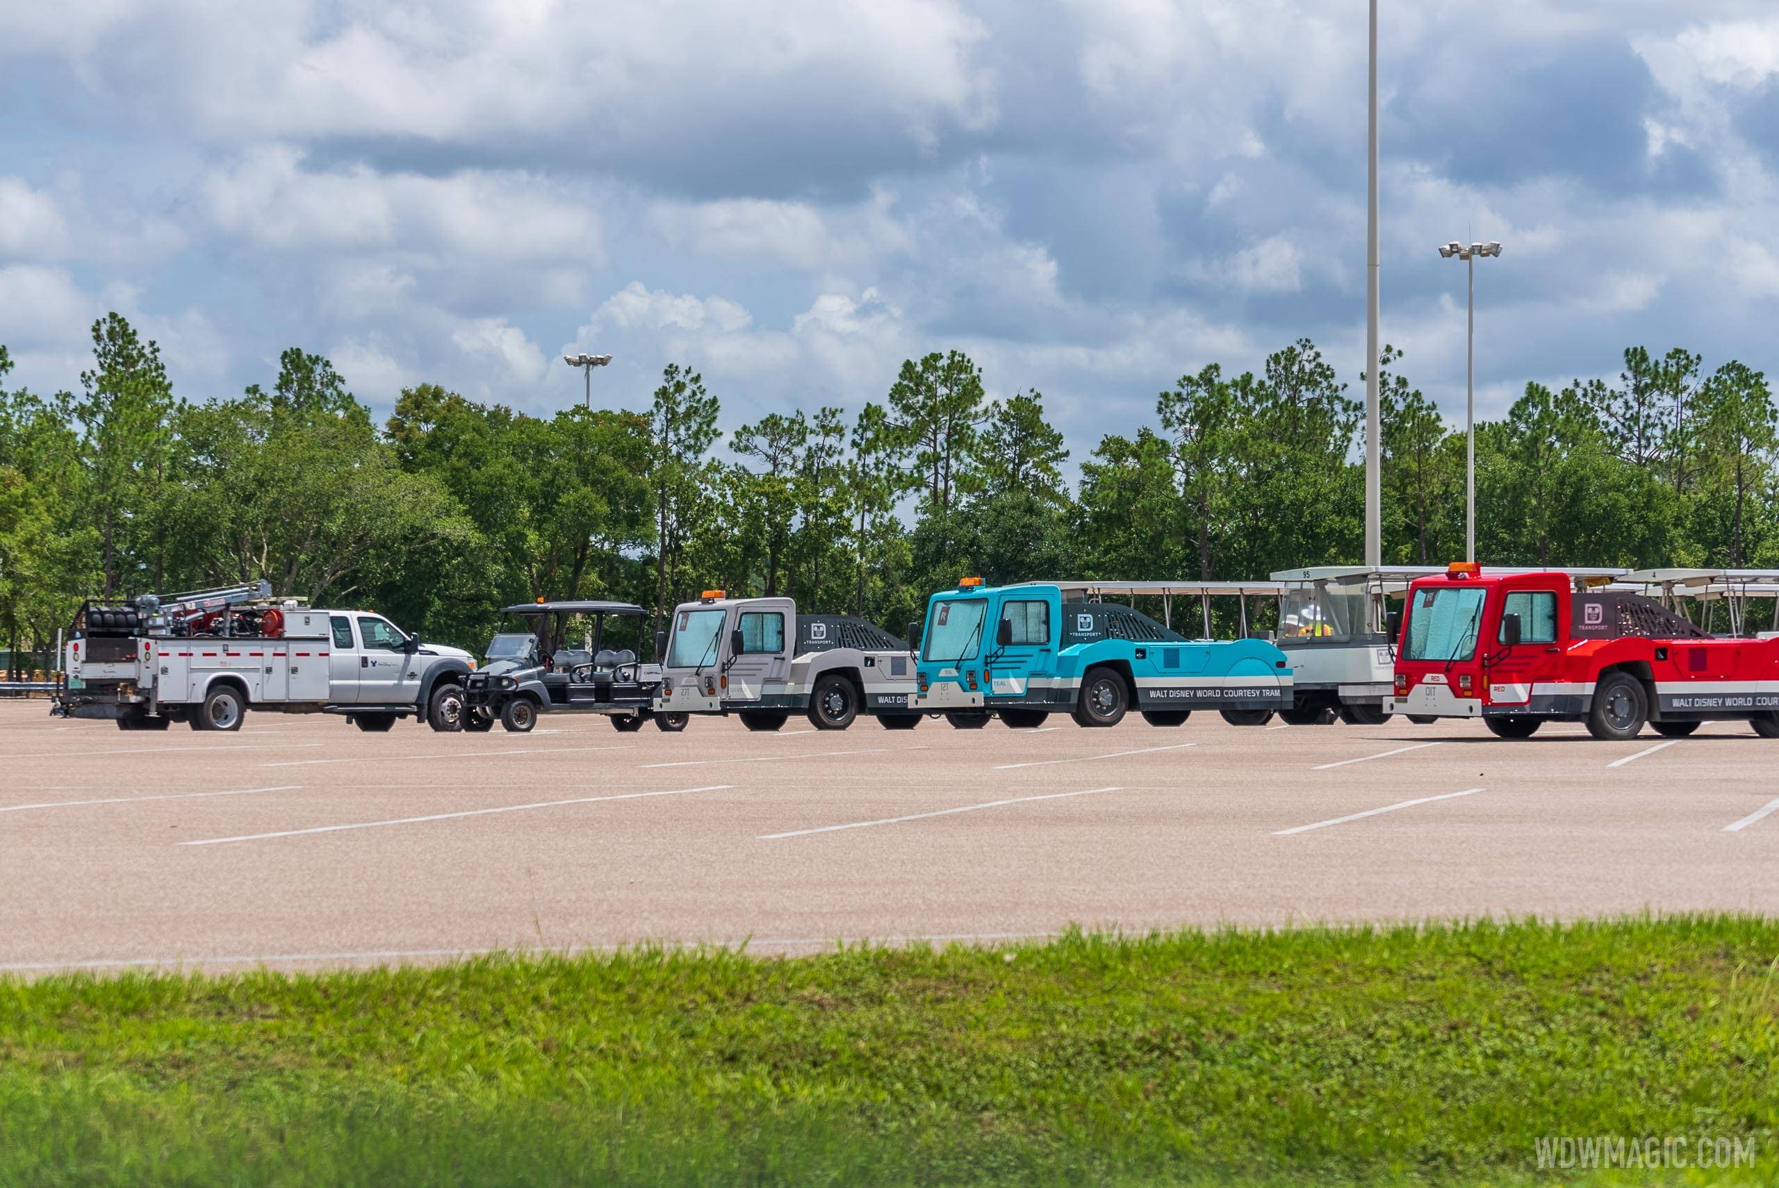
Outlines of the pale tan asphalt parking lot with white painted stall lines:
M0 704L0 971L1779 912L1779 740L1478 724L123 733Z

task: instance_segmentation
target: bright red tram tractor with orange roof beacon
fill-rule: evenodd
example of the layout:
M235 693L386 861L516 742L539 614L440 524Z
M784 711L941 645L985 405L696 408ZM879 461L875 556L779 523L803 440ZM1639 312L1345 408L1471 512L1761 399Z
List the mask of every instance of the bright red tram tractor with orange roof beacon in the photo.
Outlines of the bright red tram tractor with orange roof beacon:
M1719 637L1642 592L1638 574L1482 571L1420 578L1393 704L1482 718L1503 738L1583 720L1596 738L1669 736L1745 718L1779 736L1779 638Z

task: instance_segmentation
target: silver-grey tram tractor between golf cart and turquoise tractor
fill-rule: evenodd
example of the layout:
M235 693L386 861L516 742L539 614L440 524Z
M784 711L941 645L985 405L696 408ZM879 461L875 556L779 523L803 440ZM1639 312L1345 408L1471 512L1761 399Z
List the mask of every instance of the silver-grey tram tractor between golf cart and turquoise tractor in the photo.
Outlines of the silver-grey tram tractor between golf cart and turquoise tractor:
M660 711L735 713L765 731L792 713L808 715L817 729L845 729L859 713L890 729L920 722L909 710L907 644L852 615L799 614L788 598L704 590L674 608L664 651Z

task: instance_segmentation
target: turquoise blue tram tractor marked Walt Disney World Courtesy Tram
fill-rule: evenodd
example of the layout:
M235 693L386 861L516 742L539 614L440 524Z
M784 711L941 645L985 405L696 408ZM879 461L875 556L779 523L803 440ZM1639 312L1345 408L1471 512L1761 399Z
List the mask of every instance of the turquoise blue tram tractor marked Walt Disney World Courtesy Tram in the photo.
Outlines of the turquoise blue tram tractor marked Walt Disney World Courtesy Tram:
M1267 640L1190 640L1128 606L1064 601L1087 582L984 587L966 578L934 594L922 631L914 708L980 726L1037 726L1067 710L1082 726L1115 726L1137 710L1179 726L1192 710L1258 711L1292 704L1292 670Z

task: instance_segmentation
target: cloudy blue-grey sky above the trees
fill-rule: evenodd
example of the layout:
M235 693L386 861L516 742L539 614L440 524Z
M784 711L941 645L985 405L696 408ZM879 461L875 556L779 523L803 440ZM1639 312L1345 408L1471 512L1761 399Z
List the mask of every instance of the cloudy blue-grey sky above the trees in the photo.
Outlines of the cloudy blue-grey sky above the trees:
M770 12L772 16L763 16ZM1779 370L1772 0L1384 0L1384 338L1448 413L1628 343ZM1083 454L1208 361L1357 379L1363 0L0 5L0 341L121 309L187 398L333 357L733 427L961 347Z

